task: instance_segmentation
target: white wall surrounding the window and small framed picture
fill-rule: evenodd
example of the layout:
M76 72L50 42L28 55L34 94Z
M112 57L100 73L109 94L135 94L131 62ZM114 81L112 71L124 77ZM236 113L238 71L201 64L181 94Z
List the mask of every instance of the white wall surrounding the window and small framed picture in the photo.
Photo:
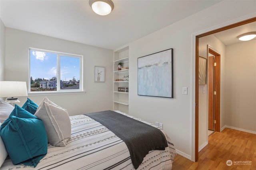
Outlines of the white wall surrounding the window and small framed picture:
M46 49L84 56L85 94L51 95L52 102L64 107L70 115L112 109L113 51L62 39L56 39L6 27L5 80L29 80L28 48ZM106 67L106 82L94 82L94 66ZM44 96L28 96L39 104ZM19 97L19 105L26 97Z

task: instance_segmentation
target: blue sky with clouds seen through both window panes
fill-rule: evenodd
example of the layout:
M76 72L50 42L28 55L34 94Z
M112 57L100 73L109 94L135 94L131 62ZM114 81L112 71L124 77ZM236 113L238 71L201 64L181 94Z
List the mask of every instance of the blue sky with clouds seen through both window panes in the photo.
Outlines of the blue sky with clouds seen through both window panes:
M77 57L60 56L60 80L79 80L80 59ZM30 76L36 78L57 77L57 54L30 50Z

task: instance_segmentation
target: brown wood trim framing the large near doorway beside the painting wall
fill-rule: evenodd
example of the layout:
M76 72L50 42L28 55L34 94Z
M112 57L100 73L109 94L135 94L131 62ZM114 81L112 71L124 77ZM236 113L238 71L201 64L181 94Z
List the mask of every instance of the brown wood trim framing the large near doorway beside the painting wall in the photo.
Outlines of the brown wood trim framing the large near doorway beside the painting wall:
M211 35L211 34L214 34L214 33L218 33L220 31L225 31L227 29L230 29L230 28L234 28L234 27L238 27L240 25L244 25L244 24L247 24L247 23L251 23L251 22L254 22L256 21L256 17L253 17L253 18L250 18L248 20L244 20L244 21L240 21L240 22L237 22L237 23L234 23L234 24L231 24L231 25L227 25L225 27L222 27L222 28L218 28L218 29L215 29L215 30L212 30L212 31L208 31L206 33L202 33L200 35L196 35L195 37L195 47L196 47L196 50L195 50L195 161L198 160L198 90L199 90L199 85L198 85L198 61L199 61L199 38L200 37L204 37L206 35Z

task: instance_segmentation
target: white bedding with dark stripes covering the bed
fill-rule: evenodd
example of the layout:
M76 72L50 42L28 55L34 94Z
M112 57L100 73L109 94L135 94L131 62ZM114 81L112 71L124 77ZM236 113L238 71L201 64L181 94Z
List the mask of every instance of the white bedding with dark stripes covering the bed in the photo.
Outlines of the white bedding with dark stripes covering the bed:
M147 123L130 115L126 116ZM71 139L66 147L48 145L48 153L36 168L13 165L10 159L6 159L0 170L134 170L128 148L114 133L86 115L70 116L70 121ZM176 151L170 138L162 132L166 136L168 147L165 150L150 151L137 170L172 169Z

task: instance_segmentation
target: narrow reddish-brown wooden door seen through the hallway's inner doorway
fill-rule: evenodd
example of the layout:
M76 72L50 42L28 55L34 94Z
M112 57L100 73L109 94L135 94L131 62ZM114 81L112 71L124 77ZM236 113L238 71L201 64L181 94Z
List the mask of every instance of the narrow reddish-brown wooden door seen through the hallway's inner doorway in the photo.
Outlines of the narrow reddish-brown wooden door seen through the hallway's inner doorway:
M214 56L208 57L208 129L214 131Z

